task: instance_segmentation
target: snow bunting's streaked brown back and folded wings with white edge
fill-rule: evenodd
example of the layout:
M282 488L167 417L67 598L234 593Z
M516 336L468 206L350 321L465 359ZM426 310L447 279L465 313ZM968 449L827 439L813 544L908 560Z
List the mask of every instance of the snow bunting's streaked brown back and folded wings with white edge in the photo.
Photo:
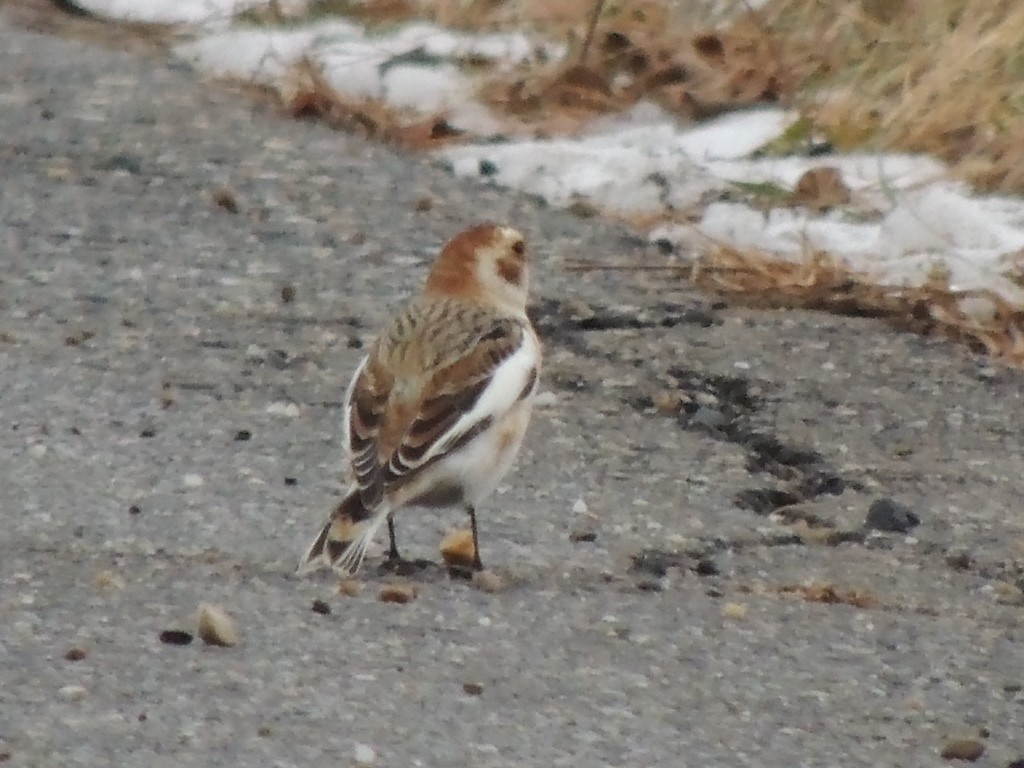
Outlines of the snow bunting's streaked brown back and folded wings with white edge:
M349 456L365 506L473 439L536 386L540 348L524 321L450 305L401 316L375 343L346 398ZM407 315L423 310L407 310ZM430 316L427 317L431 319Z

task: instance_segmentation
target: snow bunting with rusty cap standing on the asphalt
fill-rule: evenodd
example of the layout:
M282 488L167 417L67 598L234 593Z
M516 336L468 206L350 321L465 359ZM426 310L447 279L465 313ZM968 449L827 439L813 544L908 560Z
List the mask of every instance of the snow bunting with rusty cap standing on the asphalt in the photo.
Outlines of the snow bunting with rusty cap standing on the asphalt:
M515 229L480 224L441 250L418 296L362 358L345 394L352 481L299 572L354 573L404 506L462 506L482 568L476 505L512 466L529 420L541 344L526 317L529 258Z

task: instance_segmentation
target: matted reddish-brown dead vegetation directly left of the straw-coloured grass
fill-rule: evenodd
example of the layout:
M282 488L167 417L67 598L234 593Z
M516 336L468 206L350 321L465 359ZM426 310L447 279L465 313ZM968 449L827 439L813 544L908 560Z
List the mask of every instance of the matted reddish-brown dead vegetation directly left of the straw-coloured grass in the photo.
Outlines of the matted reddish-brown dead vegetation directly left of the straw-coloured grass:
M672 4L640 0L609 5L591 44L580 31L593 2L572 5L570 26L559 28L569 20L560 15L549 25L567 41L566 59L493 78L482 89L485 102L535 129L564 132L573 120L644 99L698 120L795 93L774 40L750 26L711 30Z

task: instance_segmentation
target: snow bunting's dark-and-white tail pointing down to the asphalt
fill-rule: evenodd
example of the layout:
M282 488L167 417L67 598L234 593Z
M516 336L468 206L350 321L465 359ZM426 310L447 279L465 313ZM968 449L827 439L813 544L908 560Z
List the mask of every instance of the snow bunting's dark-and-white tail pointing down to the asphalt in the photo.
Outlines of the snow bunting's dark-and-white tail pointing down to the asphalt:
M318 568L333 568L344 575L355 573L389 511L387 504L367 509L358 492L349 490L302 556L299 575Z

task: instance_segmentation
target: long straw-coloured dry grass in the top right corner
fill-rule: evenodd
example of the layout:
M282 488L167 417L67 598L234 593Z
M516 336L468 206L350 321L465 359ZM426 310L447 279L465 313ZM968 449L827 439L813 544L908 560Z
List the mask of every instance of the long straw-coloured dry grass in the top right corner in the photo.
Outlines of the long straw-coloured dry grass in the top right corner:
M772 0L754 19L840 150L928 153L980 189L1024 191L1024 4Z

